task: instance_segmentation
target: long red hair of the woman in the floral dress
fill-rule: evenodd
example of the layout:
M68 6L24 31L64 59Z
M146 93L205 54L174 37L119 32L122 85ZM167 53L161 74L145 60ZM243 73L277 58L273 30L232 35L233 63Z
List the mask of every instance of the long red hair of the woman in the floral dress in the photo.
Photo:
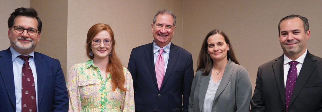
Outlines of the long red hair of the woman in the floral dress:
M119 87L121 90L126 91L126 89L124 88L125 77L123 73L123 66L121 64L121 61L116 56L116 53L114 50L116 41L114 39L114 33L111 27L109 27L109 25L98 23L90 27L90 30L88 30L87 32L87 39L86 39L87 57L89 57L90 59L94 58L94 56L89 55L91 51L92 41L93 41L93 38L102 30L106 30L107 32L109 32L109 35L111 36L112 55L109 56L109 64L107 65L106 73L109 72L111 74L111 78L112 78L111 83L113 85L112 90L115 90L117 87Z

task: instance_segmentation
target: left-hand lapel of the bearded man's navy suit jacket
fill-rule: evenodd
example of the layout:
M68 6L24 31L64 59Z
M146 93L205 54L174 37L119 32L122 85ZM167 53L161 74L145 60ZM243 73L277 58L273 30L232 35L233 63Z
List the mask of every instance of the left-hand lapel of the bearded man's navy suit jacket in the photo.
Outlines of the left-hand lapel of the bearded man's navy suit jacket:
M10 48L0 54L0 78L2 78L12 105L16 108L16 96L14 90L14 71Z

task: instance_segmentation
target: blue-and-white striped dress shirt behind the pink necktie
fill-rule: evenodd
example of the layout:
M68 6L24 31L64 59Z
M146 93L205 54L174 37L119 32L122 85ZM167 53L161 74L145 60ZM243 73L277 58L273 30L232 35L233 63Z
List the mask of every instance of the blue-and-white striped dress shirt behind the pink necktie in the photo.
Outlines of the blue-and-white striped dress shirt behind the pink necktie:
M162 52L162 57L164 59L164 73L166 74L166 67L168 66L168 60L169 60L169 54L170 54L170 46L171 46L171 42L169 42L168 45L166 45L165 47L163 47L162 49L164 50ZM158 45L156 45L156 43L153 40L153 58L154 58L154 66L156 66L156 57L159 55L159 50L161 47L159 47Z

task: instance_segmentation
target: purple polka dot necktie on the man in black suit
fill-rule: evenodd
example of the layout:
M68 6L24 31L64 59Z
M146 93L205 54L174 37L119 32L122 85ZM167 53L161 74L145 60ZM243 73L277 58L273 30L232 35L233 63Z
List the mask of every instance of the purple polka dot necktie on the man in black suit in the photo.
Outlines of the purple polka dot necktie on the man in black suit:
M286 85L285 85L285 108L286 112L289 108L289 101L291 100L291 96L294 90L296 78L298 77L298 69L296 65L298 65L297 61L289 62L289 73L287 74Z

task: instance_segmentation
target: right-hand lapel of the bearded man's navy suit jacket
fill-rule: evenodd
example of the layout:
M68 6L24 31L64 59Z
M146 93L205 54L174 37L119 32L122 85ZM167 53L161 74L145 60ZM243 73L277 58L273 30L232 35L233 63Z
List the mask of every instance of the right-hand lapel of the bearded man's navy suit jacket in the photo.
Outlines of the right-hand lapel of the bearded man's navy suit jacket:
M38 89L38 105L41 103L41 99L43 97L43 90L45 87L45 81L46 81L46 60L43 59L43 57L38 53L35 52L34 57L35 65L36 65L36 71L37 71L37 89Z

